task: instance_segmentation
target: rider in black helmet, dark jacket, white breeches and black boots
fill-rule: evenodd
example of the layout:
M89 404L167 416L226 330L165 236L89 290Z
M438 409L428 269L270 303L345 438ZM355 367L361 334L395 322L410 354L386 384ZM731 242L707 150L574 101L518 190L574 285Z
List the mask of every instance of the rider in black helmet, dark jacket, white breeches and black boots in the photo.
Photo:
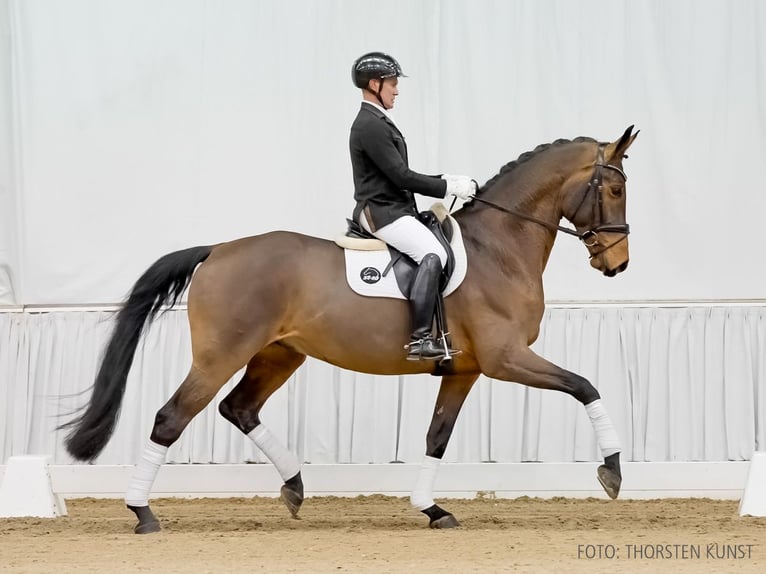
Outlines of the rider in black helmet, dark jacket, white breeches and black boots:
M399 95L400 77L406 76L399 63L382 52L364 54L351 68L354 85L362 90L362 106L349 138L353 218L418 264L409 293L412 335L405 345L407 359L441 359L444 349L434 341L432 326L447 253L417 219L413 194L468 199L476 183L467 176L423 175L409 168L404 136L387 113Z

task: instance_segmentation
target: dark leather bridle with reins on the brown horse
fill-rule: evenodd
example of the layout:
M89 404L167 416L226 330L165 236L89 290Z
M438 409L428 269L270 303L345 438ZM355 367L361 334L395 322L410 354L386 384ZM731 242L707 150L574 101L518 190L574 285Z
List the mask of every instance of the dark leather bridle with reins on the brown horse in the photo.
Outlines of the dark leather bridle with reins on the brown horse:
M604 163L604 149L606 148L606 145L607 144L605 143L600 143L598 145L598 155L596 157L596 163L593 166L593 175L591 176L590 181L588 182L588 187L585 188L585 192L582 195L582 199L580 199L580 203L577 204L577 209L575 209L571 217L567 217L569 221L574 221L574 219L577 217L577 214L580 212L580 209L585 204L585 200L588 198L588 195L590 195L590 191L594 190L596 194L593 200L594 224L590 229L583 231L582 233L580 233L576 229L571 229L569 227L557 225L549 221L538 219L537 217L533 217L532 215L521 213L519 211L516 211L515 209L503 207L502 205L498 205L492 201L488 201L478 195L473 195L471 197L473 198L474 201L484 203L504 213L515 215L516 217L520 217L522 219L526 219L527 221L537 223L538 225L542 225L543 227L547 227L548 229L551 229L554 231L561 231L562 233L566 233L567 235L573 235L574 237L577 237L580 241L582 241L585 244L585 246L588 248L588 251L590 252L591 258L593 258L596 255L599 255L600 253L603 253L607 249L610 249L614 247L615 245L617 245L618 243L624 241L625 239L627 239L628 234L630 234L630 225L628 225L627 223L602 223L604 220L604 185L603 185L604 170L611 169L612 171L616 171L622 176L622 179L624 181L628 181L628 176L625 175L625 172L622 171L619 167L615 165L610 165L608 163ZM618 239L614 243L610 243L609 245L604 245L603 248L598 251L592 251L594 247L599 245L598 234L600 232L622 233L622 237L620 237L620 239Z

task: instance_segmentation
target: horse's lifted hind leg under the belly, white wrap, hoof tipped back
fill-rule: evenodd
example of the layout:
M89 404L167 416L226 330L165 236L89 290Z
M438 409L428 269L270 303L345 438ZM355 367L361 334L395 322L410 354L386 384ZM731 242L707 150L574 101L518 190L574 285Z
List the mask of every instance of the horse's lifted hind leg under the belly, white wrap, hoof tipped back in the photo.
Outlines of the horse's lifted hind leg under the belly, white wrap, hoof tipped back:
M282 502L293 518L298 517L303 504L300 462L261 423L259 414L266 400L305 359L305 355L279 343L269 345L250 360L242 380L218 407L221 415L245 433L274 464L284 481Z

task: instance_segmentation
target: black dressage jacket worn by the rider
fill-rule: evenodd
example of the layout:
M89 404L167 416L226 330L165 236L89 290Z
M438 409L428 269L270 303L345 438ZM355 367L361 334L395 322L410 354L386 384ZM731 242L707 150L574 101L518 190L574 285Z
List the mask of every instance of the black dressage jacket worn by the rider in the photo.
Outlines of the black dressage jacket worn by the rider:
M447 182L409 168L407 144L394 122L375 106L362 102L349 137L354 173L354 221L362 210L373 231L404 215L417 215L413 193L443 198Z

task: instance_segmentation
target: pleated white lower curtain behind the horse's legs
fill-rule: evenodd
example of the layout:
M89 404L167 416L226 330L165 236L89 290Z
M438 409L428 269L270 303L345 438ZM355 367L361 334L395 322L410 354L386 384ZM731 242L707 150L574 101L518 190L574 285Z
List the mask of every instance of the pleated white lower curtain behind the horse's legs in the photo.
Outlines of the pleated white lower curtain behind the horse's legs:
M0 458L71 462L56 427L88 398L112 312L0 313ZM534 348L599 389L623 460L747 460L766 447L766 306L554 307ZM101 464L133 464L157 409L190 364L184 310L152 326L128 379ZM235 380L238 380L235 377ZM264 461L217 412L232 380L173 445L171 462ZM263 420L301 460L418 462L438 379L380 377L310 360L270 399ZM480 379L445 460L595 461L585 410L571 397Z

